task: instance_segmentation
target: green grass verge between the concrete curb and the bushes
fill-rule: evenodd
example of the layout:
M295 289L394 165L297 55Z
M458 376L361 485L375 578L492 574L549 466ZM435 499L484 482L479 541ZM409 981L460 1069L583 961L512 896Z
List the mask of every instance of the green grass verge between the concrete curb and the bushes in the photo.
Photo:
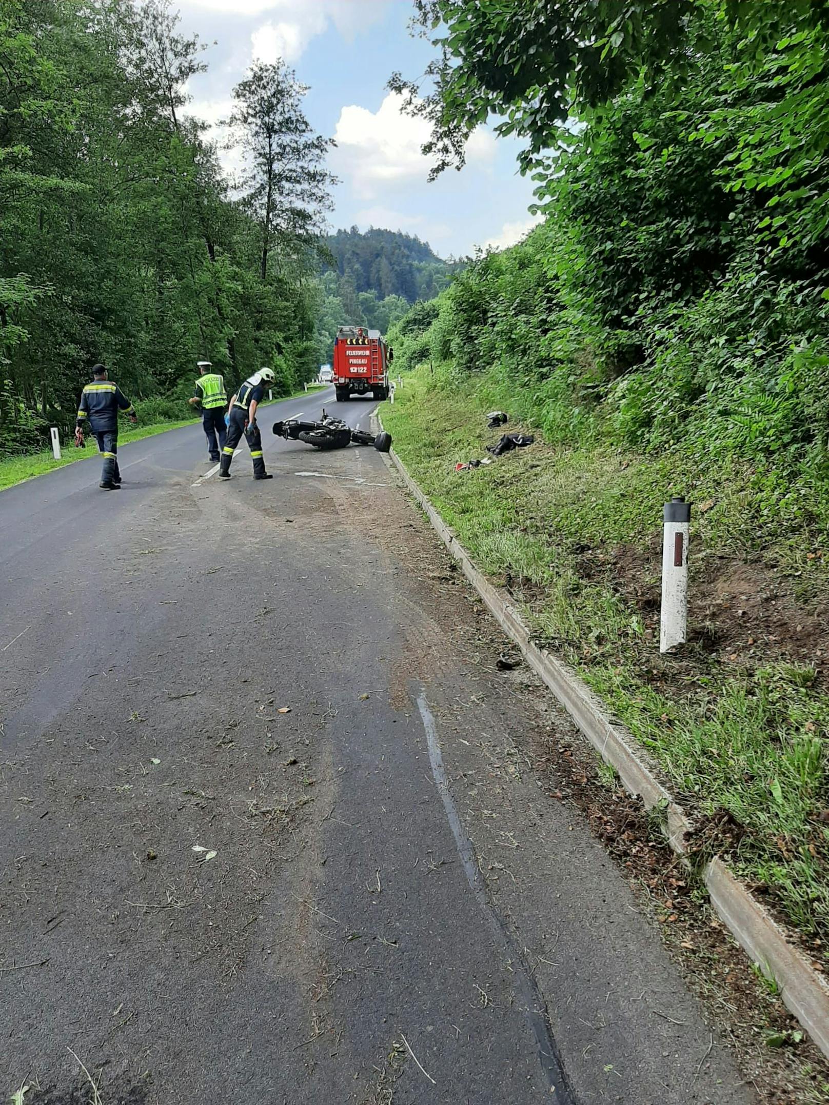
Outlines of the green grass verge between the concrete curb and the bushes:
M508 409L485 377L459 386L445 370L419 371L384 404L384 424L479 566L523 602L536 639L579 671L694 812L737 822L710 846L822 940L815 955L829 954L829 827L818 819L829 809L829 697L815 671L768 657L730 663L700 645L660 656L613 567L626 549L637 585L658 593L662 504L675 493L713 504L693 514L697 578L724 560L757 562L812 597L825 591L826 568L807 552L826 535L785 506L766 517L767 474L678 452L554 449L538 438L457 474L455 462L485 456L496 438L483 413L499 399Z

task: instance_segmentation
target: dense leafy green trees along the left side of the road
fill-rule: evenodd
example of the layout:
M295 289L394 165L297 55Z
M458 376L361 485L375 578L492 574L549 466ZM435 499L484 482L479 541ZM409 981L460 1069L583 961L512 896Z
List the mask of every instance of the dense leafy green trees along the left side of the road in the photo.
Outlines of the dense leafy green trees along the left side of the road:
M166 0L0 0L0 451L71 425L97 360L150 417L189 412L199 355L308 371L312 228L264 284L260 222L182 110L202 69Z

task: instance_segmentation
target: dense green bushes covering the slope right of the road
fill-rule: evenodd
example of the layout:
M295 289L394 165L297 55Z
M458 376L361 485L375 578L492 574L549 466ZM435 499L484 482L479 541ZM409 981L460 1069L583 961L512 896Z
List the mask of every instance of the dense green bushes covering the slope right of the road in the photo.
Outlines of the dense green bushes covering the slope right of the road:
M428 328L413 308L402 362L486 371L553 441L814 476L829 428L829 35L779 9L758 50L721 4L692 7L705 45L681 86L634 73L550 136L546 222L458 275Z

